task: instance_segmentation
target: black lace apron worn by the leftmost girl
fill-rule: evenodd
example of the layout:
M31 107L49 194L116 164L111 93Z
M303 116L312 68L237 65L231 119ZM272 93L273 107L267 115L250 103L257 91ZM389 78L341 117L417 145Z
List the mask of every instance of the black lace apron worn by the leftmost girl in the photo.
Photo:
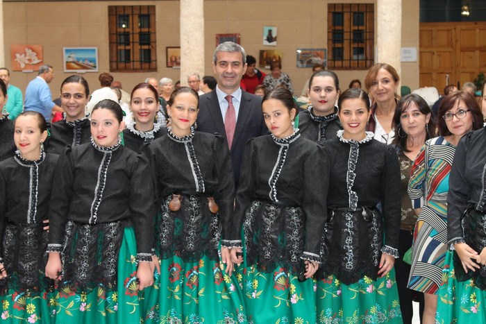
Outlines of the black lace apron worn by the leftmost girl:
M7 278L0 280L0 291L39 292L52 289L53 281L44 276L47 264L48 233L40 224L6 223L3 234L3 265Z

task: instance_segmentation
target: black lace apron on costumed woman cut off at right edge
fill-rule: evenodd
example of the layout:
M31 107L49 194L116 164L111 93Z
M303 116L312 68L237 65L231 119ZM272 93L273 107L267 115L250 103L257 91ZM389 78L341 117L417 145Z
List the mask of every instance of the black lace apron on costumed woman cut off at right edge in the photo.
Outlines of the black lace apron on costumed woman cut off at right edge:
M464 240L477 253L481 253L486 247L486 213L478 212L474 208L469 208L462 218L462 229L464 231ZM453 257L455 278L458 281L474 280L476 287L486 290L486 266L476 271L464 272L458 253L454 252Z

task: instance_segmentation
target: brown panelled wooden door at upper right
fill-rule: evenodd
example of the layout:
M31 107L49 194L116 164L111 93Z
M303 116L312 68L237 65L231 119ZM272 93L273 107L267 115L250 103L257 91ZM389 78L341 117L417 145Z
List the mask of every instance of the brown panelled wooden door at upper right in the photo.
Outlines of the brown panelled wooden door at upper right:
M462 86L486 72L486 22L421 23L420 87Z

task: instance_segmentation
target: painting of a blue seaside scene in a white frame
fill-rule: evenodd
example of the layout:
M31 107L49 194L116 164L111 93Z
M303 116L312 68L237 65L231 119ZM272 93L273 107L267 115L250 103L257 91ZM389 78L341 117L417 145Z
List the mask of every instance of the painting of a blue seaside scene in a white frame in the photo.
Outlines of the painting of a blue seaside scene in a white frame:
M62 57L65 72L98 71L98 47L62 47Z

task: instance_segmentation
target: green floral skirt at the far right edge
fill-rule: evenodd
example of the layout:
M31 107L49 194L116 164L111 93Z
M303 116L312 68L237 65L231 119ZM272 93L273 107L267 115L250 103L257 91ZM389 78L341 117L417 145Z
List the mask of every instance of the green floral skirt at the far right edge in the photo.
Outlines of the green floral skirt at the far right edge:
M486 323L486 291L476 287L472 279L459 282L455 278L454 253L446 253L435 323Z

